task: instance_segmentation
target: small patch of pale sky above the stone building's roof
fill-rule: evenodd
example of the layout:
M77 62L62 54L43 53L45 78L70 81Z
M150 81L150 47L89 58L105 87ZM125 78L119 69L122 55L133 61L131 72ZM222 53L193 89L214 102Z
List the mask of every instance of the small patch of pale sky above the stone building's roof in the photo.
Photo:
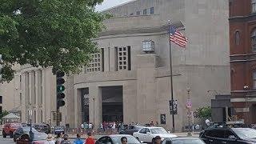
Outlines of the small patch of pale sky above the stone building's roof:
M118 6L122 3L130 2L130 1L132 0L104 0L101 5L96 6L96 10L98 11L106 10L110 7Z

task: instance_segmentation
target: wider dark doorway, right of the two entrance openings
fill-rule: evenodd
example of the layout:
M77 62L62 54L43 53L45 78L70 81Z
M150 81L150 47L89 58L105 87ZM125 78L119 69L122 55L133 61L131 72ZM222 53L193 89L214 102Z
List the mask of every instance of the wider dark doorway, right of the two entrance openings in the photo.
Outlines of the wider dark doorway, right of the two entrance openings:
M123 122L122 86L102 87L102 121Z

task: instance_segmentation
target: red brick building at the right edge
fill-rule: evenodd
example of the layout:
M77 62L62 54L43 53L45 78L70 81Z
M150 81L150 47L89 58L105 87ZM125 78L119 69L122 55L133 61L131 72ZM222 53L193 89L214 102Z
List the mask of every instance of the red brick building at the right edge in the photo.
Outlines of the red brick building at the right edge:
M256 123L256 1L230 0L231 102L238 118Z

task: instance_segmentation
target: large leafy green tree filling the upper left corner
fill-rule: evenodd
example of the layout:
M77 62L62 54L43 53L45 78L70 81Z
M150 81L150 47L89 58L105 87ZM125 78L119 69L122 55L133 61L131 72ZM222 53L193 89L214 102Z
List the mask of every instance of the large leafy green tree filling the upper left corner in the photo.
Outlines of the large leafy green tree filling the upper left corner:
M109 15L95 11L103 0L1 0L2 81L14 64L78 73L95 53L93 41Z

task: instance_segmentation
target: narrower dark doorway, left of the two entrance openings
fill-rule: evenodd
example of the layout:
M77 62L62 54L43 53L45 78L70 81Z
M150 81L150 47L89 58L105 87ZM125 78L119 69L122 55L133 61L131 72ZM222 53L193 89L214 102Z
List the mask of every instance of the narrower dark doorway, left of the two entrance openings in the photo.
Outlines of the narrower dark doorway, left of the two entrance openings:
M89 88L81 89L82 122L89 122Z

